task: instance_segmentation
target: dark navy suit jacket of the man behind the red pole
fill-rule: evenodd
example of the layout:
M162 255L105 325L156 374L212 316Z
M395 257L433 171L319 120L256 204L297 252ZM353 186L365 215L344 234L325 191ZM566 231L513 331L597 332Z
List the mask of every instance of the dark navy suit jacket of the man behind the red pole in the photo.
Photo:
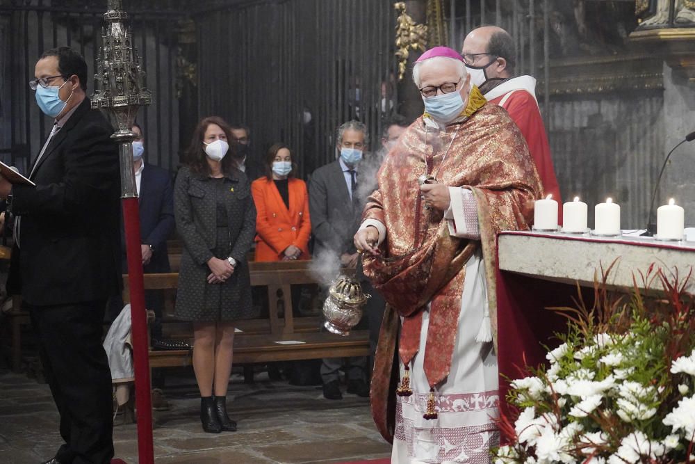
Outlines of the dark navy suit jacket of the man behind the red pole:
M167 239L174 231L174 189L169 171L145 163L140 178L140 242L154 247L146 273L170 272ZM125 237L121 230L123 270L127 272Z

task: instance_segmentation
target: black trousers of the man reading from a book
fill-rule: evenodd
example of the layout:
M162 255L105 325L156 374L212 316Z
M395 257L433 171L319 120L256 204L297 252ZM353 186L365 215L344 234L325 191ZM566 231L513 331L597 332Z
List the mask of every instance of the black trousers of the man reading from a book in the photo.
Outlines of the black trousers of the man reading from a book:
M106 301L24 305L38 334L41 362L60 413L65 464L108 464L113 457L111 371L101 344Z

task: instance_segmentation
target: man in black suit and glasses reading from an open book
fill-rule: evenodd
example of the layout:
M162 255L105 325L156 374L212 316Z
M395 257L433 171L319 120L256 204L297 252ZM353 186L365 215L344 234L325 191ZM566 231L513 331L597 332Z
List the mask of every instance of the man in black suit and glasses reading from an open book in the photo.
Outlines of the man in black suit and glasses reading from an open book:
M82 56L45 51L34 74L30 86L54 125L31 167L35 187L0 176L0 198L11 199L17 216L8 291L21 292L31 314L60 413L65 444L46 462L104 464L113 456L113 418L101 323L120 289L117 145L90 109Z

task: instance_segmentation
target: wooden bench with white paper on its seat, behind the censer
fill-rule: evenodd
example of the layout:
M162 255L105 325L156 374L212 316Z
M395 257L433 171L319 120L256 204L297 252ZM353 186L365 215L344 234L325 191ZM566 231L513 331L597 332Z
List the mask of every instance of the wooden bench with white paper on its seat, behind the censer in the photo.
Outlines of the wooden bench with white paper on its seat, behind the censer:
M321 318L293 316L291 285L316 283L307 261L249 262L252 286L268 288L268 319L238 321L234 337L234 363L308 360L318 358L368 356L368 330L354 330L347 337L320 331ZM176 289L178 273L145 274L145 289ZM129 301L127 275L124 275L124 301ZM279 296L281 295L281 296ZM279 307L284 306L284 317ZM181 322L165 322L165 324ZM186 325L186 324L184 324ZM192 330L179 332L190 339ZM174 335L174 337L177 337ZM149 351L150 367L190 365L187 350Z

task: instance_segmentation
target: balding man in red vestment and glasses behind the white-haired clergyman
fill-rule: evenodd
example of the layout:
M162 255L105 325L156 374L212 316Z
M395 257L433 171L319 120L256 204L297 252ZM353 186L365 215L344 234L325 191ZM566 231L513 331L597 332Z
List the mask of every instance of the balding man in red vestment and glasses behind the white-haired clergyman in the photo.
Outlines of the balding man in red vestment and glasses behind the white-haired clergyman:
M562 205L548 136L536 101L536 79L527 75L514 77L516 50L512 36L497 26L474 29L464 40L463 56L471 83L480 88L490 103L507 110L521 129L541 177L544 195L552 193L553 199ZM562 223L562 208L559 214Z

